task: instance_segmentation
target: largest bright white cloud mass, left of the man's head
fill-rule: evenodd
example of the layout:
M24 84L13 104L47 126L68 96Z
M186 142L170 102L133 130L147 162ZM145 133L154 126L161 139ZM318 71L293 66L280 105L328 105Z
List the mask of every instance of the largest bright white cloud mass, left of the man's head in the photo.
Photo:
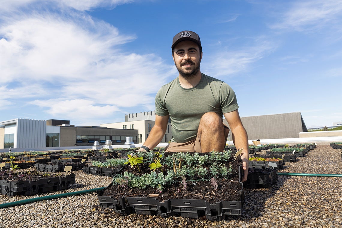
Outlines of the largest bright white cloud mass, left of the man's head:
M151 94L166 83L173 66L154 54L123 52L121 44L134 42L134 35L120 34L83 13L64 16L2 18L0 103L33 98L28 104L70 119L110 116L120 107L154 106Z

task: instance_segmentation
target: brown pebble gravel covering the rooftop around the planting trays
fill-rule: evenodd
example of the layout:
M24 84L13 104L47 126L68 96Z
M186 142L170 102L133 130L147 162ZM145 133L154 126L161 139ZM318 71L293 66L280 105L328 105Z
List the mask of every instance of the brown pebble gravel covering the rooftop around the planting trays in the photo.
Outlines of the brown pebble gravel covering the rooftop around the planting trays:
M329 143L318 142L297 162L287 162L279 172L342 174L340 150ZM265 154L265 151L258 152ZM69 189L34 196L0 195L0 203L41 196L105 187L111 177L94 176L74 171L76 184ZM342 178L278 176L269 188L244 189L245 202L241 216L227 216L222 221L206 218L170 217L158 215L121 215L101 208L96 192L51 199L0 209L0 227L342 227Z

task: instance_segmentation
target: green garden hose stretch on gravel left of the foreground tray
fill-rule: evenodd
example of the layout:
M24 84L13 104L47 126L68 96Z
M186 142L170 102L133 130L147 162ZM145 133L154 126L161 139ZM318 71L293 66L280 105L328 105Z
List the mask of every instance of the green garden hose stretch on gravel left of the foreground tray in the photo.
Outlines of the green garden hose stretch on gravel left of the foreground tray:
M26 199L26 200L19 200L19 201L15 201L15 202L2 203L2 204L0 204L0 208L17 206L17 205L22 205L22 204L27 204L27 203L33 203L33 202L42 201L42 200L51 200L51 199L56 199L56 198L68 197L68 196L82 195L82 194L92 193L92 192L96 192L96 191L101 191L104 188L105 187L93 188L93 189L88 189L88 190L83 190L83 191L67 192L67 193L62 193L62 194L57 194L57 195L42 196L42 197L36 197L36 198L31 198L31 199Z

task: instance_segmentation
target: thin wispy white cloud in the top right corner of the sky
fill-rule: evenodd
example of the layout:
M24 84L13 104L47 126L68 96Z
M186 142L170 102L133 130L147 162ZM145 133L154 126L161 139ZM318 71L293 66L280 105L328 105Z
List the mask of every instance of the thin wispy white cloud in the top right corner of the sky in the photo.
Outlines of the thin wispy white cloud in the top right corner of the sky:
M295 1L291 9L280 15L280 22L271 25L271 28L303 31L336 24L340 29L341 11L340 1Z

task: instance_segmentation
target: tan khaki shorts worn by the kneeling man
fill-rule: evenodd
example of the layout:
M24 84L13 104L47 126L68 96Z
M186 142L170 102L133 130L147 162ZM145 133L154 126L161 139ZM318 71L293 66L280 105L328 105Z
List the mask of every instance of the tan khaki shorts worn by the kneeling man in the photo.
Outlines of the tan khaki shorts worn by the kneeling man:
M227 126L223 126L223 133L227 140L229 128ZM199 141L198 136L186 143L175 143L170 142L168 146L165 147L165 152L198 152L201 153L201 142Z

